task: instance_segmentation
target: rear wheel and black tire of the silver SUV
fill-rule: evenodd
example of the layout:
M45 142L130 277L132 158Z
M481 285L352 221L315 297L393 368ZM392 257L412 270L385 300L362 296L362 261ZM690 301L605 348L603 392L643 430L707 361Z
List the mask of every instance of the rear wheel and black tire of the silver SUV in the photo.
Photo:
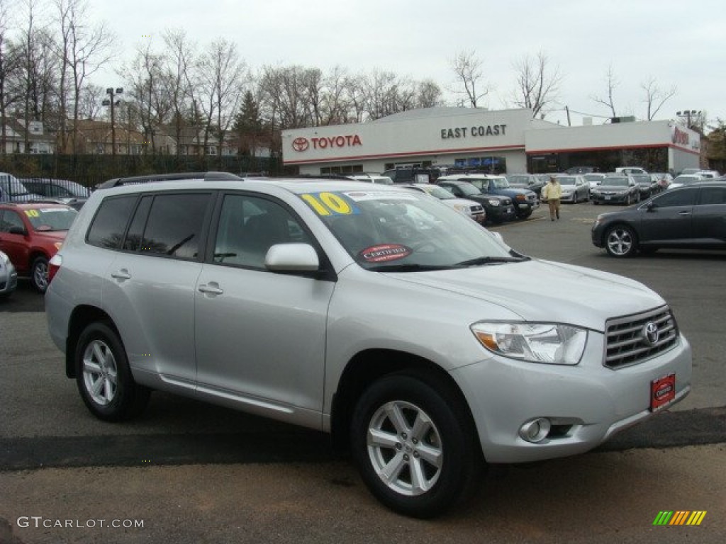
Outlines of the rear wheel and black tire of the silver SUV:
M91 323L83 329L75 363L78 392L97 418L123 421L146 408L150 390L134 382L123 343L106 323Z

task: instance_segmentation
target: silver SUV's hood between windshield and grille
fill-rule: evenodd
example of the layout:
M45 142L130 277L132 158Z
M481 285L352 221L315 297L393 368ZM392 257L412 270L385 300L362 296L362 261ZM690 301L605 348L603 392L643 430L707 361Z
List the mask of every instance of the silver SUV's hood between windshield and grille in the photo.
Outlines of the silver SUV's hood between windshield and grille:
M545 260L395 276L489 302L525 321L571 323L596 331L603 331L609 318L665 305L658 294L638 281ZM483 313L477 319L487 317L501 319L502 315Z

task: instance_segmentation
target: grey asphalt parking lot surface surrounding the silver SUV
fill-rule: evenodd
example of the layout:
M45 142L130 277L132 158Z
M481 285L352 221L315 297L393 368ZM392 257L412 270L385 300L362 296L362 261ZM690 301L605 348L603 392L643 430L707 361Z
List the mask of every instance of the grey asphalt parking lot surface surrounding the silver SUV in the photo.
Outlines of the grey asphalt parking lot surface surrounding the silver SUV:
M726 252L613 259L590 242L608 209L564 205L557 222L540 209L493 230L527 255L656 289L693 346L693 392L595 452L495 466L473 503L431 522L380 506L319 433L161 394L139 421L97 421L23 282L0 301L0 543L721 542ZM660 511L707 514L653 526Z

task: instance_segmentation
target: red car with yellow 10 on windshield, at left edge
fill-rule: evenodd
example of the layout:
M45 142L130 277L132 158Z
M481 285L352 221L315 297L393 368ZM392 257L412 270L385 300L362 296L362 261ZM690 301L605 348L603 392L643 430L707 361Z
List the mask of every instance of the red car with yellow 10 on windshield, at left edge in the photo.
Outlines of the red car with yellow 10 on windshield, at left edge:
M29 277L41 293L48 287L48 261L76 215L76 210L62 204L0 204L0 251L10 257L17 275Z

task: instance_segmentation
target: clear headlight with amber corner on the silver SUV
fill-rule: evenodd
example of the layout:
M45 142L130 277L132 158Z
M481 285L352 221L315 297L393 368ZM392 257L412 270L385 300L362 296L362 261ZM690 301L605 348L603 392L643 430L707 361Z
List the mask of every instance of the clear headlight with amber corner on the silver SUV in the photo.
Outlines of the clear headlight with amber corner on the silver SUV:
M587 342L586 329L559 323L479 321L471 331L492 353L531 363L576 365Z

